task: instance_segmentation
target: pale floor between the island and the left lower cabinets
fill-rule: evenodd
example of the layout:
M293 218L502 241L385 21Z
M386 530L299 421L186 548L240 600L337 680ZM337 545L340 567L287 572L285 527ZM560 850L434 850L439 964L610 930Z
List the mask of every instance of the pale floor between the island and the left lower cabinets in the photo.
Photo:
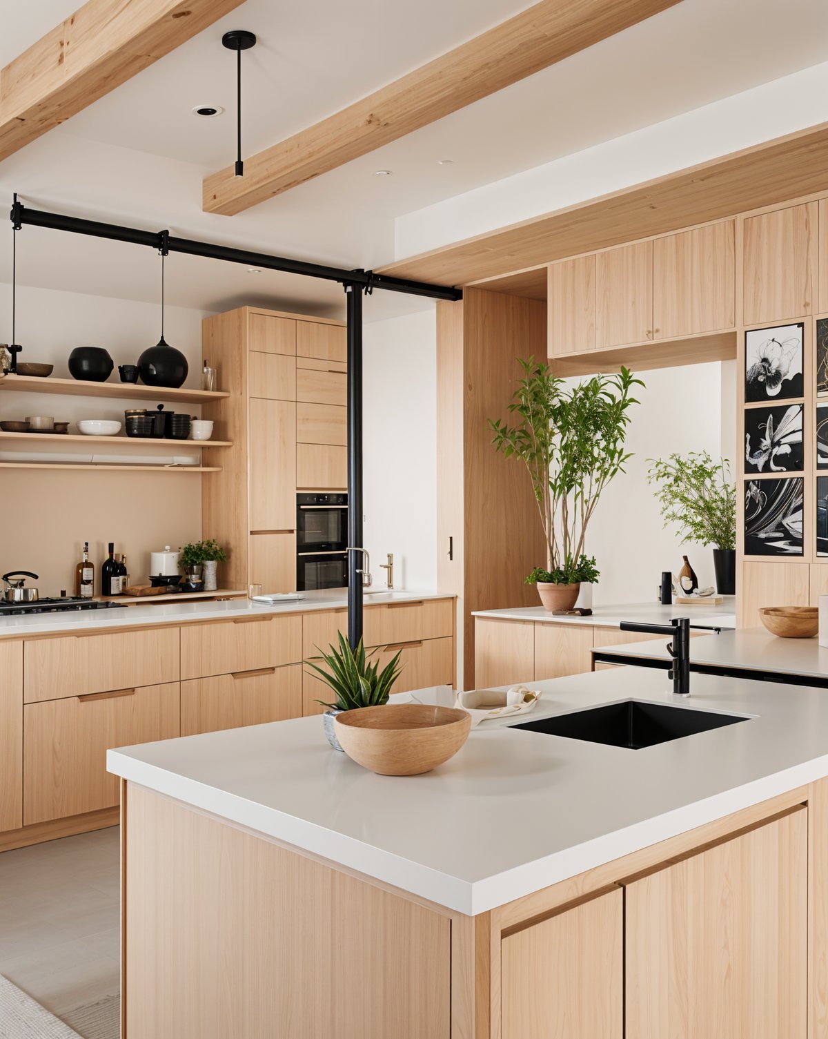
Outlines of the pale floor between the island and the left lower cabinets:
M118 827L0 854L0 974L57 1017L118 991Z

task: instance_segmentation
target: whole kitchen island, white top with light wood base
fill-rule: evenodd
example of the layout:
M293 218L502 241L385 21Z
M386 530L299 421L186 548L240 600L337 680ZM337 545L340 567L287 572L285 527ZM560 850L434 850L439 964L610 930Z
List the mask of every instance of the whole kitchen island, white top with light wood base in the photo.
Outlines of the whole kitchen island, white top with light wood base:
M409 778L315 718L110 751L124 1039L828 1034L828 700L663 686L542 683L526 721L635 699L720 727L634 750L490 721Z

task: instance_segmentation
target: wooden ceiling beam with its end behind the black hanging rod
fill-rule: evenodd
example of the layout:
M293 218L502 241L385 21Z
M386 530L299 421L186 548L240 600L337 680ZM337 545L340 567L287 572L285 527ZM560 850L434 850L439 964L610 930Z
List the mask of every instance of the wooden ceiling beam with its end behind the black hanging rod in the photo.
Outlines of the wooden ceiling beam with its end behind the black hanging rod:
M233 216L398 140L680 0L541 0L442 57L204 182L204 210Z

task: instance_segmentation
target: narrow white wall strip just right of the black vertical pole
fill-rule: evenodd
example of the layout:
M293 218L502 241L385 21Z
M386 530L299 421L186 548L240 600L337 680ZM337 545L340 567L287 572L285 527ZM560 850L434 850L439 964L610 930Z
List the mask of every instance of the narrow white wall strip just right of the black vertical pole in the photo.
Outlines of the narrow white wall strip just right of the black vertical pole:
M365 544L374 587L436 587L435 310L366 324ZM504 604L506 605L506 604Z

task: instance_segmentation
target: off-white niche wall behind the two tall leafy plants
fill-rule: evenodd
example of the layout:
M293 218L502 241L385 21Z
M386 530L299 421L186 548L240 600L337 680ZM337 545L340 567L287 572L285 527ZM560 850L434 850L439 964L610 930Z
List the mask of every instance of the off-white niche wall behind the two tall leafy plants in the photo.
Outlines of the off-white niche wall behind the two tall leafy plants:
M640 374L645 388L636 388L641 403L631 409L626 437L634 457L602 496L587 532L587 550L602 575L595 604L655 602L661 571L677 574L683 555L702 587L715 584L712 550L683 545L672 529L664 529L646 459L673 451L709 451L718 458L726 451L734 470L734 377L736 362Z

